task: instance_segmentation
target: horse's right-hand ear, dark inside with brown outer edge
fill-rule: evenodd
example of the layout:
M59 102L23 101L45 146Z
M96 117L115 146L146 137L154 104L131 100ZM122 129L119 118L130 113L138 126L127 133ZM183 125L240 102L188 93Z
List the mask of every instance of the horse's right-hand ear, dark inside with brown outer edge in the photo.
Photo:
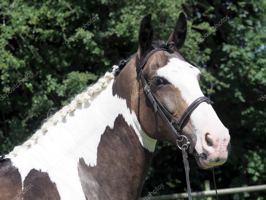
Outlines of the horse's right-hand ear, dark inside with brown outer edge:
M168 38L168 42L174 42L174 47L179 50L185 42L186 39L186 29L188 25L186 22L186 16L182 12L180 13L178 20L176 22L176 27L174 27L174 31Z

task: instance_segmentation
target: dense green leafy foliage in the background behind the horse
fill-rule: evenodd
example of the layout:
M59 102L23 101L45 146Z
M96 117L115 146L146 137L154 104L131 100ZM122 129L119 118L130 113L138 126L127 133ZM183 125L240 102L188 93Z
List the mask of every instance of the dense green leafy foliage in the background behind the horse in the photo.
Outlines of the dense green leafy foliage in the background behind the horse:
M28 137L50 108L62 106L67 98L93 83L98 73L135 53L145 14L152 13L155 39L166 40L184 11L188 32L180 54L202 71L202 91L214 102L231 135L231 155L216 170L217 185L228 188L265 183L266 101L261 101L266 95L265 10L265 0L2 0L0 95L8 93L9 97L0 101L0 152L7 153ZM208 34L226 16L228 19ZM66 44L68 38L71 41ZM30 77L9 93L27 74ZM175 146L158 143L142 195L161 183L164 188L156 194L185 191L181 158ZM190 167L193 191L204 190L203 181L211 180L211 173L198 170L193 158ZM265 194L220 198L262 200Z

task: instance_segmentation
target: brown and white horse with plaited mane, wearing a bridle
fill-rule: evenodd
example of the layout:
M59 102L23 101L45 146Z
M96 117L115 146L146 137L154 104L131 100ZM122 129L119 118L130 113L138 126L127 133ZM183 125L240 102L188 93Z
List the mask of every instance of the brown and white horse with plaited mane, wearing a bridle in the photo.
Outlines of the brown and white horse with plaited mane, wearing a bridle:
M156 142L176 145L177 137L143 92L136 57L142 62L152 50L171 47L173 51L157 51L149 57L143 77L152 80L151 91L179 118L204 96L200 70L177 52L186 30L181 13L168 40L154 41L151 14L146 15L140 23L137 53L114 65L49 117L30 139L4 155L0 199L137 200ZM229 132L209 103L195 107L182 127L190 141L187 151L203 169L222 165L230 149Z

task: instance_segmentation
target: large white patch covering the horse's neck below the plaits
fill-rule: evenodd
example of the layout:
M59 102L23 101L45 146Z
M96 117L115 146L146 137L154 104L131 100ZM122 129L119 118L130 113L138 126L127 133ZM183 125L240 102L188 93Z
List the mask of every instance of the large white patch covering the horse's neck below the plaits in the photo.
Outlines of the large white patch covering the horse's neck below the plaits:
M85 199L77 164L80 158L84 158L87 165L97 165L97 147L101 135L107 126L111 129L114 127L115 118L119 114L134 128L142 146L154 151L156 140L143 132L136 114L127 108L126 100L117 95L113 97L113 82L112 79L100 93L91 96L90 103L74 105L71 102L66 109L74 109L73 112L61 112L64 118L55 114L52 119L56 120L45 123L42 130L32 136L38 139L15 147L14 152L6 156L18 168L22 183L31 169L41 170L47 172L51 181L55 182L62 200ZM79 99L77 101L82 102Z

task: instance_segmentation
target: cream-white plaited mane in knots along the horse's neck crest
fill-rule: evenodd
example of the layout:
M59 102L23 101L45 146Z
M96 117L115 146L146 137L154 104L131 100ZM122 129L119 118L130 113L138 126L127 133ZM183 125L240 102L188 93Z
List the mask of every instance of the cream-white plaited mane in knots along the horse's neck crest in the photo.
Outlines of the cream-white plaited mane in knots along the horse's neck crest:
M65 118L69 113L74 112L78 104L85 102L91 103L91 97L93 97L94 94L99 93L102 88L107 87L110 80L113 79L118 72L119 66L114 65L111 72L106 72L105 75L100 77L96 83L90 85L84 92L77 94L68 105L65 105L51 117L47 118L41 128L37 130L30 139L25 141L22 145L15 146L13 151L5 155L5 158L8 158L9 156L16 156L21 148L36 144L38 142L38 138L43 137L43 133L49 131L49 126L56 125L59 120Z

